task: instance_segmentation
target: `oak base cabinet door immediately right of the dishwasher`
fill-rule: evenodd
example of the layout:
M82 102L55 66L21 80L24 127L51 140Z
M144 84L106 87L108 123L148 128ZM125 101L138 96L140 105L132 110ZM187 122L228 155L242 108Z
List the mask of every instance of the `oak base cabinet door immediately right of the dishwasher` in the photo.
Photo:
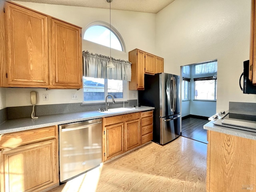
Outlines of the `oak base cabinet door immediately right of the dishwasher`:
M124 123L105 127L105 160L124 152Z

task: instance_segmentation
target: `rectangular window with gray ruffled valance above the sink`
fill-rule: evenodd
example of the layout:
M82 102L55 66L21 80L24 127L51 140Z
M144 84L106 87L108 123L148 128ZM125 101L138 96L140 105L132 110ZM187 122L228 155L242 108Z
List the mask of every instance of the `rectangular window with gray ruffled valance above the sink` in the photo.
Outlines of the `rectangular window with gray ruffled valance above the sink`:
M112 58L115 68L107 68L108 56L83 52L84 102L104 102L107 94L115 101L126 100L131 63ZM110 97L109 97L110 98Z

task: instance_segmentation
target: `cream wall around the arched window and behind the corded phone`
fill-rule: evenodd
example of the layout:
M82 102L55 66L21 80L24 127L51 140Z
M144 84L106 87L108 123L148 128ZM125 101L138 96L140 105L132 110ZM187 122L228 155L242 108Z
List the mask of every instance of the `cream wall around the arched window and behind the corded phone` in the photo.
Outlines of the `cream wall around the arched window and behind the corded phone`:
M88 27L90 23L95 21L103 21L109 23L108 9L60 6L29 2L16 3L48 14L55 18L70 22L77 26L81 26L83 28L82 37L84 36L86 27ZM113 58L128 60L128 52L135 48L139 48L154 54L156 28L155 14L111 10L111 25L121 34L126 46L126 53L112 49L111 56ZM92 53L98 53L107 56L110 54L109 48L86 40L82 41L82 50L88 50ZM82 102L82 89L46 91L45 89L40 88L7 88L6 107L31 105L30 91L32 90L38 92L38 105ZM137 91L128 91L127 99L134 99L132 97L134 92L136 93L135 99L137 99ZM49 101L42 101L42 94L44 93L49 94ZM76 93L78 95L78 100L71 100L72 93Z

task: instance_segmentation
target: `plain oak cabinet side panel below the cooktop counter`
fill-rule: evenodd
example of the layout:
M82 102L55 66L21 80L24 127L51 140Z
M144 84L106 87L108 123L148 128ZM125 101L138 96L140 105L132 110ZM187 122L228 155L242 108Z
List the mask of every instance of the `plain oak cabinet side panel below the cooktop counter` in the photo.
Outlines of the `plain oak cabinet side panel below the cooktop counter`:
M256 140L207 131L207 192L254 190Z

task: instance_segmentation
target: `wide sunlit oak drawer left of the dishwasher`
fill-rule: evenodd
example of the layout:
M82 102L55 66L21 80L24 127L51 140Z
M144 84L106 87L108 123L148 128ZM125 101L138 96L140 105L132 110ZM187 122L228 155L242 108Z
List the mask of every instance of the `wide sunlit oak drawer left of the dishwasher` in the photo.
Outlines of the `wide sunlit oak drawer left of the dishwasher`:
M32 142L55 138L56 136L56 126L3 134L0 138L0 148L13 148Z

